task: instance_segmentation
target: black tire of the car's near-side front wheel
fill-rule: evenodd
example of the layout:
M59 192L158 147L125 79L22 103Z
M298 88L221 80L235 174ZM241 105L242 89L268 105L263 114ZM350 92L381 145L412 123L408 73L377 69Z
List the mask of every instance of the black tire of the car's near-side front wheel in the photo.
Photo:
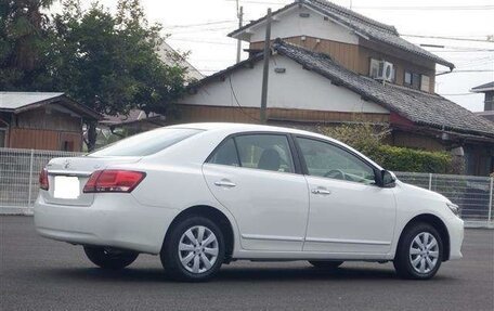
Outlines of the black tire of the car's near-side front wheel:
M414 259L419 260L417 261L417 264L421 264L421 259L419 258L422 256L429 256L428 250L422 250L425 254L421 255L411 255L411 247L412 244L414 243L414 239L418 237L421 233L428 233L433 238L435 238L435 244L437 244L437 250L430 251L431 254L437 252L437 257L434 258L434 265L432 269L425 270L424 272L418 271L414 268L412 261ZM420 239L421 241L421 239ZM427 244L427 243L426 243ZM430 243L429 243L430 245ZM430 258L430 257L429 257ZM400 275L403 278L412 278L412 280L428 280L431 278L432 276L435 275L438 272L439 268L441 267L441 262L443 259L443 242L441 239L441 235L439 232L430 224L428 223L422 223L418 222L416 224L413 224L412 226L407 228L406 231L402 233L402 236L400 237L400 242L396 248L396 254L394 255L394 260L393 260L393 265L394 269L396 270L398 275ZM429 264L426 259L424 259L425 264ZM432 262L432 261L431 261ZM427 268L427 267L426 267Z

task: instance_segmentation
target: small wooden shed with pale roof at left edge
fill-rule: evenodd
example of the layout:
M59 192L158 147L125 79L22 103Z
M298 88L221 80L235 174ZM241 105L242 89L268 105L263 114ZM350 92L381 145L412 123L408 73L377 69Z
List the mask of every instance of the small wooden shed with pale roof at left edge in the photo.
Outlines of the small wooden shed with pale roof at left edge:
M82 125L101 115L64 93L0 92L0 147L82 151Z

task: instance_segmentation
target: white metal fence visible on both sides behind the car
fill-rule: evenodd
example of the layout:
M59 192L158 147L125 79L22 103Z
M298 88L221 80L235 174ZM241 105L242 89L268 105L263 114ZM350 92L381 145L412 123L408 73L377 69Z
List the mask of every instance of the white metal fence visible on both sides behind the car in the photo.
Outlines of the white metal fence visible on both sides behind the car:
M30 213L38 195L38 174L54 157L80 153L0 148L0 213ZM461 208L461 218L493 225L493 178L396 172L398 178L439 192Z

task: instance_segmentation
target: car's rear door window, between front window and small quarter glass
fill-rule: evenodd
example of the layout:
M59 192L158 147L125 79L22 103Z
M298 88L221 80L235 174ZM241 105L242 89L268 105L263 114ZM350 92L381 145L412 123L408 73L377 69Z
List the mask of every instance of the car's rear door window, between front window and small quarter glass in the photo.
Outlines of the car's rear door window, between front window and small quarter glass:
M235 138L242 167L295 172L288 139L283 134L246 134Z

